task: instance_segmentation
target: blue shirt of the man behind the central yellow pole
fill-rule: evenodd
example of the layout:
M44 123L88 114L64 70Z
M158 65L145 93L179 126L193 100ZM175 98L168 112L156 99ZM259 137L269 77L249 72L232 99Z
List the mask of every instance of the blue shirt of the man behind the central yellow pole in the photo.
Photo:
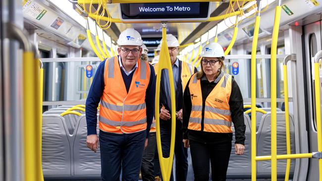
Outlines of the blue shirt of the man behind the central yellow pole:
M171 93L170 93L170 82L168 80L169 79L169 75L168 75L168 70L167 69L163 69L162 71L164 71L163 73L163 82L164 82L164 90L165 94L166 94L166 99L168 102L168 105L171 107ZM179 60L176 59L174 64L172 65L172 75L173 75L173 82L174 82L174 92L177 91L177 82L179 81Z

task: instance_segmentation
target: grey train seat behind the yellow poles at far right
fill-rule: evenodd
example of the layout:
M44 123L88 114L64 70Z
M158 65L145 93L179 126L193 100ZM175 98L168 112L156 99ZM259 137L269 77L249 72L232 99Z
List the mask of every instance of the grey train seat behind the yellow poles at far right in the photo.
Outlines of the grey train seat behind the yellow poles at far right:
M285 112L277 112L277 155L286 154L286 133L285 133ZM257 156L271 155L270 153L270 122L271 113L268 112L262 117L262 121L257 133ZM295 133L293 115L289 116L291 154L295 153ZM295 159L291 160L290 179L293 177ZM285 176L286 160L277 160L277 176ZM259 161L257 163L257 173L259 175L269 175L271 173L270 161Z

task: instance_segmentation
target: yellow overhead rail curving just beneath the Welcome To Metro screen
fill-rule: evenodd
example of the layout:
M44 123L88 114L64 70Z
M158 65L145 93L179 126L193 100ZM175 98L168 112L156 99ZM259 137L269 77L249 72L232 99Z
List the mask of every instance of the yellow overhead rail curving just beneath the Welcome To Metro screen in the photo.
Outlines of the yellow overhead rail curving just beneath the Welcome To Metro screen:
M191 21L185 21L185 20L180 20L180 21L168 21L169 23L194 23L194 22L209 22L209 21L219 21L219 20L223 20L225 18L231 17L231 16L236 16L236 15L240 15L240 11L236 11L236 12L232 12L232 13L228 13L228 14L223 14L220 16L215 16L215 17L210 17L208 20L191 20ZM97 20L103 20L103 21L110 21L112 23L161 23L161 20L158 21L122 21L120 19L117 18L108 18L106 16L100 16L97 14L93 14L93 13L89 13L88 14L89 17L93 18L93 19L97 19Z

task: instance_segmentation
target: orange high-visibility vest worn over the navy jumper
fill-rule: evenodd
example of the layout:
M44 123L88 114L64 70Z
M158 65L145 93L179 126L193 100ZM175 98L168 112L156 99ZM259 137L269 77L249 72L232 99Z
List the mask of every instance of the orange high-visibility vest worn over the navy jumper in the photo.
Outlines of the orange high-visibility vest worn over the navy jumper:
M117 56L107 59L99 116L100 130L116 134L146 130L145 93L149 82L150 66L139 59L127 92Z

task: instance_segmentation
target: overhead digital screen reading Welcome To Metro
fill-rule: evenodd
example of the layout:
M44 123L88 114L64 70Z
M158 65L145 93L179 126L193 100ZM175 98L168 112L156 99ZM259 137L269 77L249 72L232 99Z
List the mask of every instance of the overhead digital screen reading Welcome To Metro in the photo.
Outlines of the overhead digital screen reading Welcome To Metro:
M209 2L121 3L123 20L208 19Z

